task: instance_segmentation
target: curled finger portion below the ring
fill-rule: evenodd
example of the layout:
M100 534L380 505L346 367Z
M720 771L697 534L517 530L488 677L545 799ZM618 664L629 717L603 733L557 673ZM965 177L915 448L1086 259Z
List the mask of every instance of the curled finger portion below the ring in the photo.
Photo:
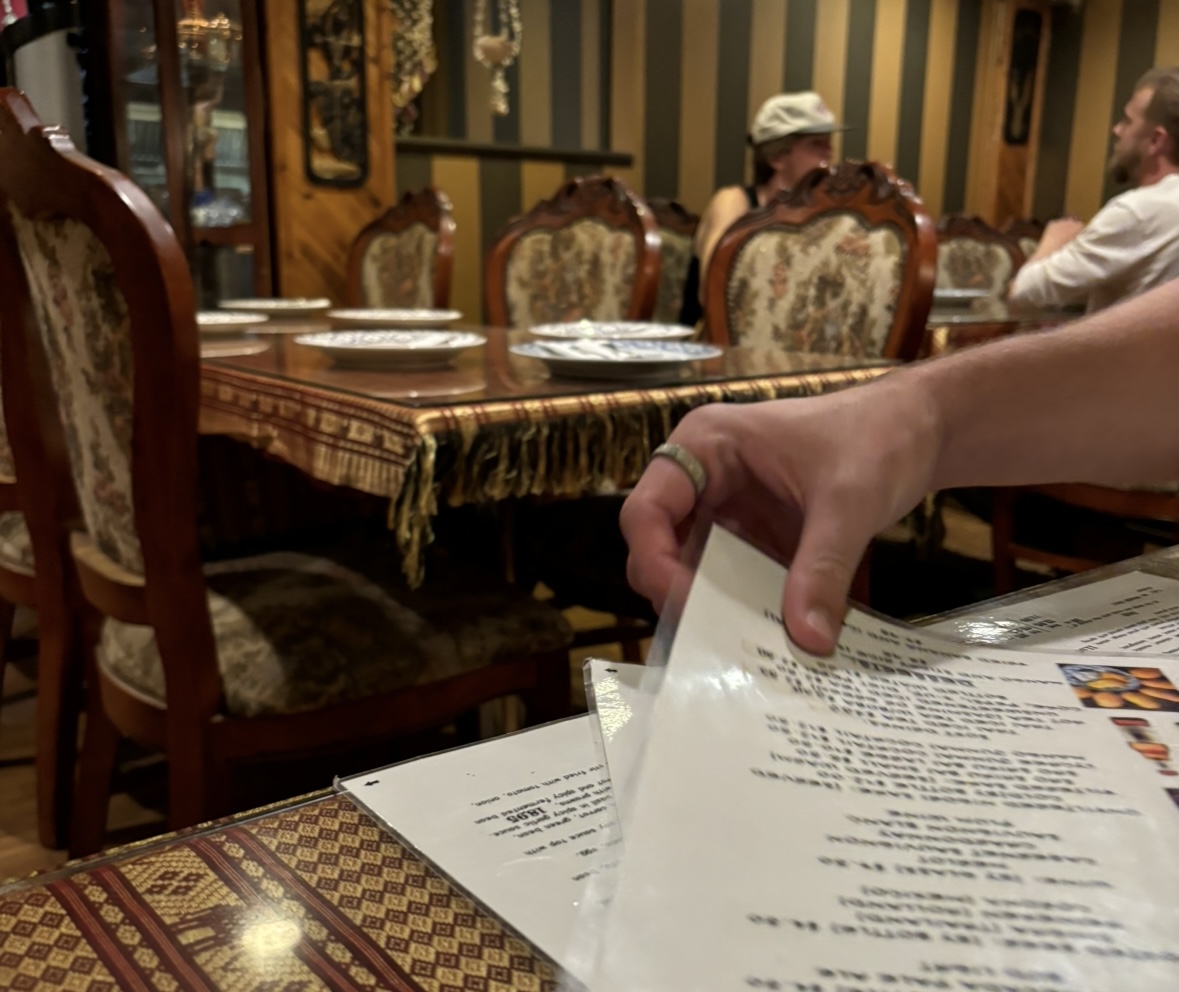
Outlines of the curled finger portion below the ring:
M670 459L647 466L623 504L619 526L630 548L626 576L640 596L661 610L667 593L683 574L681 544L676 528L696 507L696 487Z

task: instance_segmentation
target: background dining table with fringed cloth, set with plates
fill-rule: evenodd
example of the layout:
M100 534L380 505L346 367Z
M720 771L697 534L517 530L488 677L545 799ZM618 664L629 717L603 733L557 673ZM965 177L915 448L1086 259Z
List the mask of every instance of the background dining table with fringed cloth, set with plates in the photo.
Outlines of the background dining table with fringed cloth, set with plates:
M552 373L514 354L525 330L475 330L486 343L435 368L340 366L301 343L325 320L272 321L202 344L200 429L243 440L320 482L389 500L410 584L441 501L577 497L633 485L651 452L705 403L812 396L869 382L895 362L725 347L714 357L637 375Z

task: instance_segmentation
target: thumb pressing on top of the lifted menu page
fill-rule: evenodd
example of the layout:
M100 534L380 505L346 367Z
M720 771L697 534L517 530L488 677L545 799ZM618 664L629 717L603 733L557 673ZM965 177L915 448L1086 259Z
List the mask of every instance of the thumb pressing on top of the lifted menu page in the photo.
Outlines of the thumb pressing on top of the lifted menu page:
M798 551L782 594L786 631L799 648L830 655L848 611L848 591L875 528L861 507L828 497L803 520Z

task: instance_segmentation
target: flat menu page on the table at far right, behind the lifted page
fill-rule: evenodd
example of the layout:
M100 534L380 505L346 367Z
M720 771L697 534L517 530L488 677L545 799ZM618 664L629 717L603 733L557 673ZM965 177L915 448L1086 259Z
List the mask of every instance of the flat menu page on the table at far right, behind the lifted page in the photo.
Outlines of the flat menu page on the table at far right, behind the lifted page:
M1179 582L1127 572L927 630L1009 648L1179 655Z

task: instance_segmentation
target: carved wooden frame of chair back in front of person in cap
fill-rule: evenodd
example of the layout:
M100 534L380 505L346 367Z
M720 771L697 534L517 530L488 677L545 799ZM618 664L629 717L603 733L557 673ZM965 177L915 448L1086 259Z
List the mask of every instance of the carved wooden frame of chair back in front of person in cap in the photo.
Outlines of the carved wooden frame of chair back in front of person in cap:
M769 228L801 228L828 212L854 212L869 225L895 226L905 242L904 274L882 357L911 361L921 350L933 306L937 236L913 188L874 162L844 160L815 169L789 192L738 219L717 243L705 276L704 322L709 340L730 344L726 287L742 248Z

